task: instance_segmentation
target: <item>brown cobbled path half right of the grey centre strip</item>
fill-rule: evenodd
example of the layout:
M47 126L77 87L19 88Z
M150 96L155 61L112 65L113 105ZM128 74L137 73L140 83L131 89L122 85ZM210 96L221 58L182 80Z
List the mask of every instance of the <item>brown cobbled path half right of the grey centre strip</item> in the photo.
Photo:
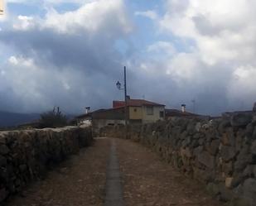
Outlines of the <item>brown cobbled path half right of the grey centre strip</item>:
M127 206L223 205L138 143L117 140L117 148Z

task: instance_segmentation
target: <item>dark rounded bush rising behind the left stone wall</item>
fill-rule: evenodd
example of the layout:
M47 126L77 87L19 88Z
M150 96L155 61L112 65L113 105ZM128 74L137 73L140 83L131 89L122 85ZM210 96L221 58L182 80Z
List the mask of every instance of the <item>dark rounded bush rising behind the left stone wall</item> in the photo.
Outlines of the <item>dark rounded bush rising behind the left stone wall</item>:
M39 127L65 127L68 124L68 119L64 114L60 112L60 108L57 110L54 107L52 111L42 113L39 120Z

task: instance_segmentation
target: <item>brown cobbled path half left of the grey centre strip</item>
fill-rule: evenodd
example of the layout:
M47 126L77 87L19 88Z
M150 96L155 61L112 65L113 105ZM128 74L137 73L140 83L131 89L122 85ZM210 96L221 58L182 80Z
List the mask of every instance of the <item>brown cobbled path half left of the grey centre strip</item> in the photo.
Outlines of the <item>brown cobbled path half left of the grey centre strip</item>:
M10 199L7 206L89 206L104 204L109 140L98 139L56 169L46 180L30 185L25 197Z

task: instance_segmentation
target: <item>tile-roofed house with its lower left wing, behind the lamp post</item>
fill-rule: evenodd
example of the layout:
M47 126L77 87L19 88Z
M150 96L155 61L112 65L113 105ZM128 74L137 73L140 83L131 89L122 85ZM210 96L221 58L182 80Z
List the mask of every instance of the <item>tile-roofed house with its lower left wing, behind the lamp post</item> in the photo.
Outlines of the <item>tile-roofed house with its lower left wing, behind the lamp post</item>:
M128 124L157 122L165 118L165 105L143 99L129 99L127 109ZM113 108L85 113L75 117L75 120L77 125L93 127L95 133L99 132L102 127L124 125L125 103L114 101Z

